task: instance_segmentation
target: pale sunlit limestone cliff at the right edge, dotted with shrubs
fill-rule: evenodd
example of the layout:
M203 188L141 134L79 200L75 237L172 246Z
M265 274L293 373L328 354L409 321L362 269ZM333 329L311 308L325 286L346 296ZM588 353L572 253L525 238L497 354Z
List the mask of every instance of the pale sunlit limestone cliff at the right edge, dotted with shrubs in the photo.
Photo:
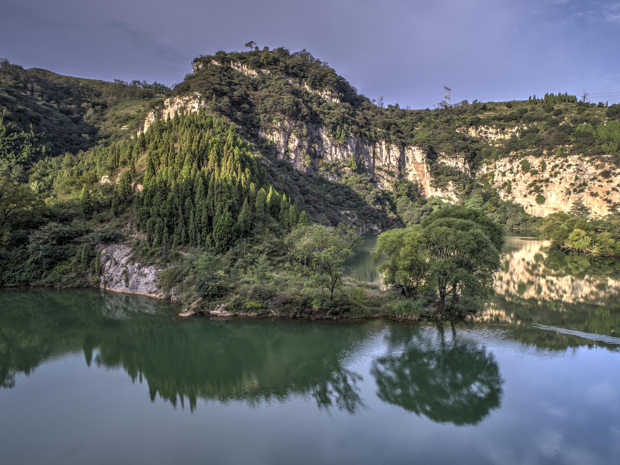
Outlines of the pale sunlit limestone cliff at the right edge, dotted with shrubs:
M528 172L521 168L524 159L531 166ZM502 158L484 164L478 175L489 175L504 200L523 205L534 216L569 211L580 201L600 218L620 202L620 174L615 167L577 155ZM536 201L539 194L544 203Z

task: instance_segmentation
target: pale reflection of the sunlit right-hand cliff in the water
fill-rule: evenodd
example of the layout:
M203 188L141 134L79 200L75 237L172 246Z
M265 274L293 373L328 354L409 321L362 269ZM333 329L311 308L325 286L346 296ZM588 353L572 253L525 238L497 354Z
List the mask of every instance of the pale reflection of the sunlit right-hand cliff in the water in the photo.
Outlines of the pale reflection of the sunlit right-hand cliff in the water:
M577 330L585 339L588 333L594 340L595 335L619 335L619 260L566 254L535 237L512 236L496 290L480 320L513 325L523 342L560 349L584 343L575 335L533 331L531 324L557 327L560 333Z

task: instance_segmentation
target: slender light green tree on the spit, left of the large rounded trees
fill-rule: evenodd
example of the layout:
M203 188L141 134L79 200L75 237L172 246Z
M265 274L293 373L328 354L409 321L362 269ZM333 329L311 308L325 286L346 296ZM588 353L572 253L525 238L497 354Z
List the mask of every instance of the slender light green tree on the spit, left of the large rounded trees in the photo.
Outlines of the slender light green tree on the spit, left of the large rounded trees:
M286 236L289 254L299 263L306 283L325 291L334 299L334 291L342 291L343 263L353 255L353 248L362 244L361 234L352 226L339 224L337 228L312 224L298 226Z

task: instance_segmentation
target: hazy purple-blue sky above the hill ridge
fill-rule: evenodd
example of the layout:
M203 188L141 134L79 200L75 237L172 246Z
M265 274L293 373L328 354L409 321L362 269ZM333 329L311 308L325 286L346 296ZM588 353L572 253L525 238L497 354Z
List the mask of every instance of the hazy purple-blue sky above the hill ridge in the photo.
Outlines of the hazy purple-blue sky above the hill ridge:
M112 81L182 81L196 56L305 48L371 99L432 108L545 92L620 101L620 1L2 0L0 57Z

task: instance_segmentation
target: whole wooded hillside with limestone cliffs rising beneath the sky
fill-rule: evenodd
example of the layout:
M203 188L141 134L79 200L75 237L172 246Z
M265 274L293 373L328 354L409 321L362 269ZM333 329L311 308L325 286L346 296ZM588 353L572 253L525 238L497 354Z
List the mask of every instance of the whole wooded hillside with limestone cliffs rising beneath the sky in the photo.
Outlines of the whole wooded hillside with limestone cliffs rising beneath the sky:
M384 231L458 204L526 228L620 203L620 105L567 93L385 107L284 48L200 56L174 89L0 71L2 285L144 288L153 265L157 294L190 303L205 273L238 296L271 270L265 302L301 311L281 292L299 223Z

